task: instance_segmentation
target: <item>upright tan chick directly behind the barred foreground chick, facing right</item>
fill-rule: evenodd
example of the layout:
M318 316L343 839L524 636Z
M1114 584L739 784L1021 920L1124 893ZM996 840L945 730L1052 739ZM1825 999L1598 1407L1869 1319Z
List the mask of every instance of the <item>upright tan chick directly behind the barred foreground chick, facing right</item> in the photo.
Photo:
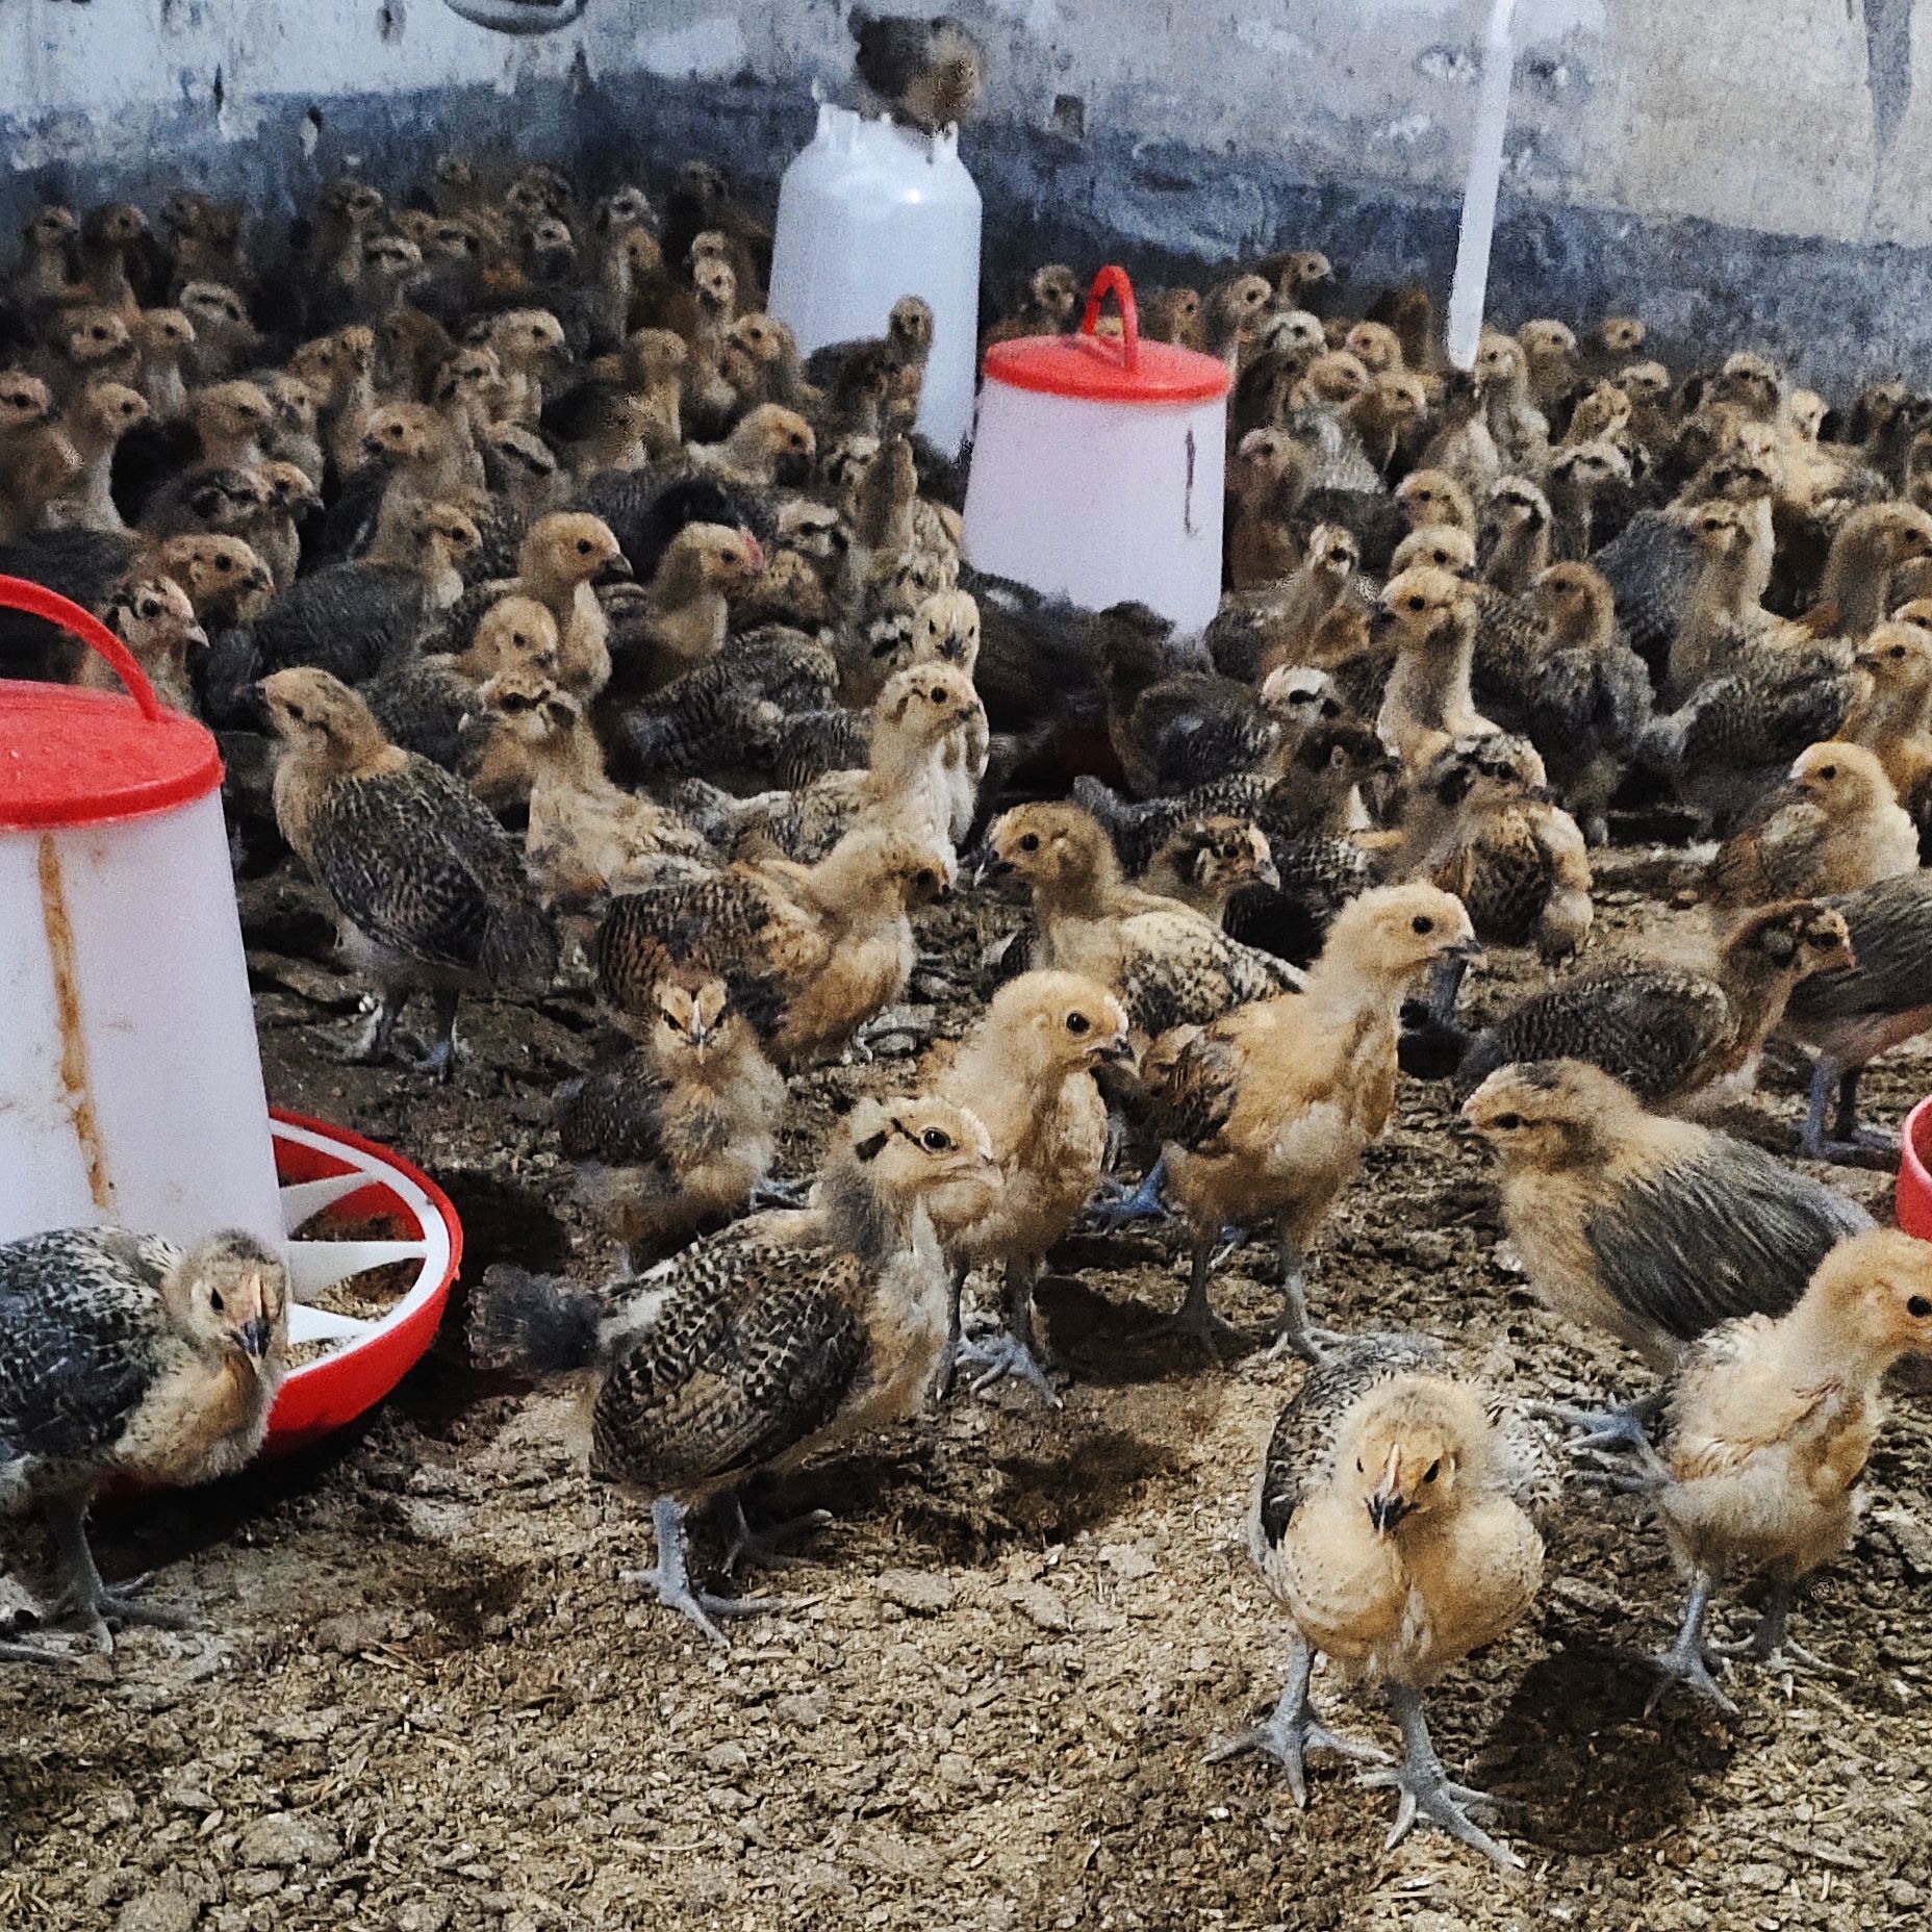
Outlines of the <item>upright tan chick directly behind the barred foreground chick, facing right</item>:
M1128 1059L1126 1009L1099 981L1028 972L922 1068L922 1086L985 1122L1005 1182L985 1211L939 1227L960 1285L974 1267L1005 1271L1005 1327L958 1349L958 1362L980 1372L976 1393L1010 1376L1059 1406L1034 1327L1034 1285L1107 1165L1107 1103L1094 1070Z

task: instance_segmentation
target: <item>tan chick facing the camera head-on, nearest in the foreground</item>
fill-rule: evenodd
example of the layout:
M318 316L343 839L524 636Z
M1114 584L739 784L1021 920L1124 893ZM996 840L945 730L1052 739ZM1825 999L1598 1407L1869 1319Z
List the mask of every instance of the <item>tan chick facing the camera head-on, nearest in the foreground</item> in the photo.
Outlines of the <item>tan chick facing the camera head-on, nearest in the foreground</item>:
M1422 1694L1528 1613L1542 1584L1538 1519L1555 1501L1542 1445L1497 1418L1435 1343L1364 1335L1323 1362L1283 1408L1262 1463L1248 1542L1293 1625L1289 1683L1269 1719L1219 1747L1260 1750L1304 1804L1308 1750L1379 1760L1316 1721L1316 1652L1379 1683L1403 1727L1403 1762L1362 1774L1401 1793L1387 1843L1418 1816L1505 1870L1522 1866L1470 1820L1493 1808L1451 1783Z

